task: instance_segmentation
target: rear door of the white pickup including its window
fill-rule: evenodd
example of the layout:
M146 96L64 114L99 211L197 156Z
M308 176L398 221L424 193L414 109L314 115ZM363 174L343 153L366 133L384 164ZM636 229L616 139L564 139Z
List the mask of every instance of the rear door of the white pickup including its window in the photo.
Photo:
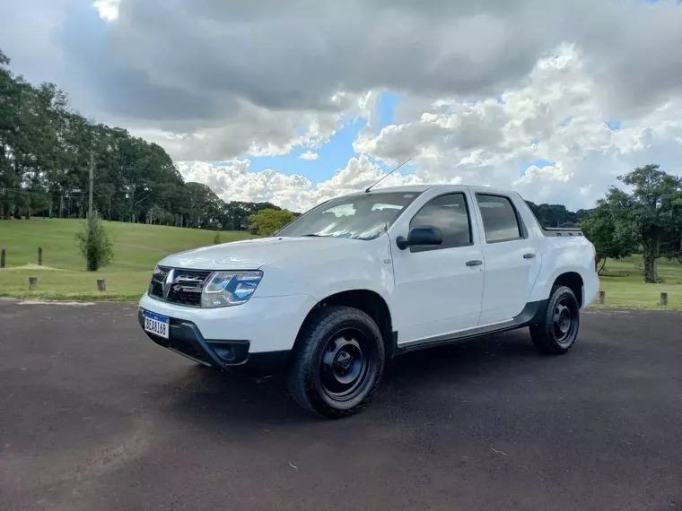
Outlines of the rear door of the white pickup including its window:
M539 257L510 195L473 194L477 202L485 277L478 325L507 321L520 314L538 278Z

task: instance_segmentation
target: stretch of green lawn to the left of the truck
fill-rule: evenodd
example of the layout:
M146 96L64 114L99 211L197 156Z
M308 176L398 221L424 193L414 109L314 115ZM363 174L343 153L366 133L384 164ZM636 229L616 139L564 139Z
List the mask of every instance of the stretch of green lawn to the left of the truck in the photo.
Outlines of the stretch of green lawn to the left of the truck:
M99 272L85 272L85 260L74 235L82 220L33 219L0 221L0 249L7 266L0 270L0 296L34 299L136 300L149 282L154 264L164 255L213 243L214 231L104 221L114 240L114 260ZM245 232L225 231L221 241L254 238ZM43 249L43 265L38 263ZM38 277L29 290L29 277ZM107 291L97 290L104 279Z

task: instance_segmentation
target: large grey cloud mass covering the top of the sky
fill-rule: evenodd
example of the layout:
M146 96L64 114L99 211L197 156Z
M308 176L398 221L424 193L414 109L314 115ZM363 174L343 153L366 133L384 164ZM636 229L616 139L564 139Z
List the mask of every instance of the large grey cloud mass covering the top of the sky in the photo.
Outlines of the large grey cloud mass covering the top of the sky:
M415 112L447 108L451 99L434 102L445 95L517 88L562 41L584 52L605 116L643 115L682 93L682 53L660 50L682 44L675 0L0 4L3 50L18 73L57 82L85 116L150 134L177 160L312 150L344 113L362 115L368 134L383 90L407 98L396 122L413 122ZM93 8L107 26L93 22ZM457 119L471 128L460 142L499 134L494 114Z

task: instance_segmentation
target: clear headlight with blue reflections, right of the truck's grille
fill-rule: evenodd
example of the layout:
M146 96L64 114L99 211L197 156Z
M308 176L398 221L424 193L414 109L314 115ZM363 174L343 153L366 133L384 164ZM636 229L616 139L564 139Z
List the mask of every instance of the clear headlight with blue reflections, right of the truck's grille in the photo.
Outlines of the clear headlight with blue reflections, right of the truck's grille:
M201 292L201 307L231 307L246 303L262 278L263 272L215 272Z

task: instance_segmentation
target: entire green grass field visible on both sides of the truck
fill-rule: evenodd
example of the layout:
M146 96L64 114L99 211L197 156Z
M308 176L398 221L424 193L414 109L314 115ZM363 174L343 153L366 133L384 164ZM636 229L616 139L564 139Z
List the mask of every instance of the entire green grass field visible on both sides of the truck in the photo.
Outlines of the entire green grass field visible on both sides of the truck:
M114 261L100 272L84 271L74 235L84 221L35 219L0 221L0 248L7 250L7 268L0 270L0 296L21 299L136 300L146 288L156 264L164 255L211 245L214 231L104 222L115 240ZM221 241L252 238L244 232L223 232ZM43 266L35 266L38 247ZM38 277L37 290L28 289L30 276ZM668 292L667 308L682 309L682 264L661 259L660 284L645 284L640 257L608 260L600 277L606 291L604 307L662 308L660 292ZM107 291L97 291L97 279ZM595 306L597 307L597 306ZM599 306L601 307L601 306Z

